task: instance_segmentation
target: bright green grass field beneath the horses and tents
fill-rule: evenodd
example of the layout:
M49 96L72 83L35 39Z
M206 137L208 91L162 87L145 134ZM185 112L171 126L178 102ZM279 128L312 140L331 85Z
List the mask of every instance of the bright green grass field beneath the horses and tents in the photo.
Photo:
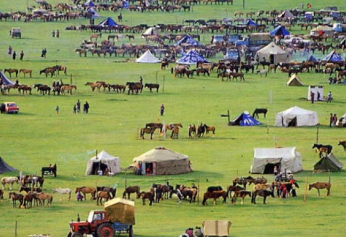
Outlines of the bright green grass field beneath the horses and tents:
M1 12L12 10L25 11L27 4L34 1L7 1L1 2ZM57 1L52 2L57 3ZM259 9L286 9L300 6L301 1L246 1L246 11ZM36 4L36 3L35 3ZM307 2L305 2L305 5ZM337 5L340 10L346 10L344 0L325 2L317 0L312 3L313 10L327 5ZM178 23L186 19L209 19L233 17L235 10L242 10L242 1L235 0L234 5L196 5L193 12L163 13L133 13L121 10L124 16L123 24L136 25L147 23ZM100 12L102 18L106 16L117 19L118 13ZM43 23L34 21L29 23L1 21L0 22L0 68L31 68L32 78L18 75L20 83L32 85L46 83L51 85L53 79L62 79L77 85L73 95L42 96L36 90L32 95L19 95L11 90L10 95L1 95L2 101L15 101L20 107L18 115L0 116L1 157L17 170L0 174L4 176L18 175L19 170L24 174L38 174L42 166L57 163L57 177L45 176L44 192L52 192L54 187L70 188L78 186L94 186L95 182L102 186L118 185L117 197L121 196L125 187L125 171L133 158L157 146L164 146L178 153L188 155L194 172L172 176L136 176L129 174L127 184L140 185L141 190L148 190L152 183L170 181L172 185L183 183L187 186L197 184L200 180L201 197L208 186L221 185L226 188L236 176L247 176L253 160L254 148L297 147L303 156L303 172L295 174L301 188L297 189L297 198L271 198L267 204L253 205L250 199L245 204L234 206L227 200L221 204L218 200L214 206L209 200L209 206L184 201L177 204L177 198L154 203L153 206L142 206L141 200L135 199L134 235L142 237L174 237L188 227L201 226L207 219L226 219L233 223L230 228L232 237L306 237L316 235L320 237L345 236L345 171L331 173L331 196L326 197L322 190L321 197L316 197L317 191L307 191L307 201L303 203L305 177L308 183L328 181L328 173L313 173L313 165L318 161L318 154L311 149L316 141L316 127L282 128L274 127L275 114L292 106L299 106L318 113L320 126L318 141L331 144L333 153L342 163L346 163L346 153L339 140L346 140L342 128L329 127L329 114L336 113L338 117L345 114L345 87L330 85L328 77L315 73L299 75L305 85L323 85L325 95L332 91L332 103L310 102L306 98L307 86L288 87L287 74L271 73L267 78L260 78L256 74L245 75L246 81L225 82L211 77L173 78L170 70L161 71L159 64L122 63L125 58L92 57L88 54L79 57L75 49L82 40L88 39L90 32L65 31L66 26L88 24L88 20L78 19ZM11 27L22 28L22 39L11 39L8 32ZM60 38L52 38L51 31L61 32ZM269 30L271 30L269 28ZM302 33L295 27L294 33ZM306 34L306 32L303 32ZM107 34L103 34L105 39ZM210 41L211 34L201 37L203 43ZM124 40L124 42L128 42ZM120 44L122 42L118 42ZM135 35L136 44L145 41ZM7 48L11 45L19 55L24 50L24 60L13 61L7 55ZM47 48L47 58L40 57L42 48ZM318 57L323 57L318 54ZM211 61L216 62L221 54ZM133 59L133 58L131 58ZM39 71L55 64L65 65L68 75L45 78ZM72 76L71 76L72 75ZM6 74L8 76L8 74ZM108 83L126 83L138 81L142 76L144 83L160 84L159 93L149 93L144 89L141 94L127 95L114 92L91 92L87 81L105 80ZM15 78L12 79L15 80ZM163 91L164 87L164 91ZM272 103L270 103L272 92ZM73 105L80 99L82 106L85 101L90 104L89 114L73 114ZM160 105L164 103L165 116L160 117ZM55 107L60 112L55 113ZM262 125L256 127L227 126L227 118L221 114L230 110L231 119L242 111L253 112L255 108L268 108L267 118L260 115ZM179 139L164 139L155 133L153 140L139 139L138 129L147 122L181 122ZM191 123L200 122L216 127L215 137L205 136L201 139L188 138L187 127ZM269 129L267 125L269 124ZM268 132L268 133L267 133ZM94 156L95 150L106 150L109 154L121 158L123 171L113 177L84 176L87 160ZM256 176L256 175L255 175ZM273 175L264 175L268 180ZM208 179L208 182L206 181ZM14 185L14 189L19 188ZM252 189L252 186L250 186ZM95 201L77 202L75 194L71 201L54 195L52 207L33 207L31 209L12 208L8 199L8 190L4 200L0 203L0 237L14 236L15 221L18 222L18 237L26 237L36 233L50 233L54 237L64 237L69 231L69 222L77 218L87 218L92 209L102 209L96 206ZM200 199L201 203L202 198Z

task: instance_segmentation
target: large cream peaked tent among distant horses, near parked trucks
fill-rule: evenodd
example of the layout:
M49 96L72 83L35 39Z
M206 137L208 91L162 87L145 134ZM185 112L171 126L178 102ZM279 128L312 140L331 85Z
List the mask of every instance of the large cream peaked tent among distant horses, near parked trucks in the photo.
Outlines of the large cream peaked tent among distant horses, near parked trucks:
M274 42L271 42L267 46L259 49L255 58L258 58L260 62L265 60L266 62L275 64L290 61L288 52L277 46Z

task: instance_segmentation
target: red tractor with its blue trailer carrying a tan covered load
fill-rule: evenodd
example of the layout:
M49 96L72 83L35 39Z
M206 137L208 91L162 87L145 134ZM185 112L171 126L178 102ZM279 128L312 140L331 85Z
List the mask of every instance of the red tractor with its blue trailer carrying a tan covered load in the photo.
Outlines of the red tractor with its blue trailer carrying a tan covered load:
M93 237L114 237L118 231L126 231L129 237L133 236L132 225L134 225L134 208L130 200L115 198L105 203L105 210L93 210L89 212L87 221L70 222L70 232L67 237L83 237L84 234ZM129 205L132 207L124 207ZM126 211L121 211L125 209ZM117 213L125 213L122 216Z

